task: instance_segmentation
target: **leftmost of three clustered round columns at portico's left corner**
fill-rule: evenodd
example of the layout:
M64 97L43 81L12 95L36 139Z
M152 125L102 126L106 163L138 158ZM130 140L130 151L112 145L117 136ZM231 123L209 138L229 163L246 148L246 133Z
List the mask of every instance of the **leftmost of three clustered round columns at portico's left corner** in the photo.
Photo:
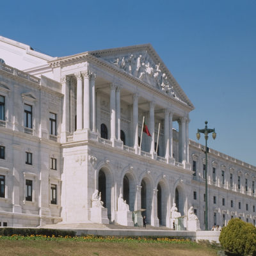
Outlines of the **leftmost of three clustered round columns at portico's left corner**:
M75 74L77 79L76 96L76 127L77 130L83 129L83 83L81 72Z

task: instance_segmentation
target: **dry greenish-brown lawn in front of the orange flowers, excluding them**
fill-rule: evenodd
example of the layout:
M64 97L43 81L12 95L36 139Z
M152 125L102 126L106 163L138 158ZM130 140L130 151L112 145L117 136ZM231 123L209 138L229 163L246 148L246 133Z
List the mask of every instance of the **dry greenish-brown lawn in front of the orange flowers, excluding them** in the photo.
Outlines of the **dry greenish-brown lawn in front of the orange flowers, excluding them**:
M217 255L205 244L168 244L168 243L117 243L117 242L79 242L79 241L0 241L0 255L154 255L154 256L210 256Z

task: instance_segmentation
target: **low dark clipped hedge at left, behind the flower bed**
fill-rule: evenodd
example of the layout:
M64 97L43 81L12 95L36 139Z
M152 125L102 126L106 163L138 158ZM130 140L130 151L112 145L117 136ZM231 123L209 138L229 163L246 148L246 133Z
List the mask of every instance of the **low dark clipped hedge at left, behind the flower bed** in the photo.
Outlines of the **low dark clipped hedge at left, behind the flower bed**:
M51 228L0 228L0 236L12 236L12 235L20 235L20 236L31 236L31 235L42 235L42 236L50 236L58 237L58 236L76 236L76 232L60 230L60 229L51 229Z

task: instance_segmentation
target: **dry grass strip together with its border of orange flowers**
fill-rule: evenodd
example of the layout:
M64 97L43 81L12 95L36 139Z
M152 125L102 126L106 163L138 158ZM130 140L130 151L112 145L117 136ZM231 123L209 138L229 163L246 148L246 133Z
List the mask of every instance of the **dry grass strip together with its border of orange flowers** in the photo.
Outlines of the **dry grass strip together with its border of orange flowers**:
M175 255L212 256L216 244L195 243L186 239L144 239L140 237L47 237L0 236L0 255Z

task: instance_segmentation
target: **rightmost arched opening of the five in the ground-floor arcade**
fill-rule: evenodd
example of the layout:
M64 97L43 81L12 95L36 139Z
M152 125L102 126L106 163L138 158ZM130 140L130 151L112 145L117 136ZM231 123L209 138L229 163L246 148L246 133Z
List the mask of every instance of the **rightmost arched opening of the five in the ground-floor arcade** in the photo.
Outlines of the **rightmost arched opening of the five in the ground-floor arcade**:
M181 216L186 215L186 190L184 188L183 180L178 180L173 188L173 203L176 204Z

